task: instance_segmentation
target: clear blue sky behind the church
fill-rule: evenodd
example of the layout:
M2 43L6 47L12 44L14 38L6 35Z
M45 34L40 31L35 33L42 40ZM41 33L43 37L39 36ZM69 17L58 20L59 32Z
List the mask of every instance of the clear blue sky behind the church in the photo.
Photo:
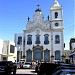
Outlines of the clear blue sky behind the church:
M33 15L40 5L44 20L50 15L54 0L0 0L0 39L14 42L15 33L23 33L28 16ZM58 0L63 8L65 50L69 49L70 38L75 37L75 0Z

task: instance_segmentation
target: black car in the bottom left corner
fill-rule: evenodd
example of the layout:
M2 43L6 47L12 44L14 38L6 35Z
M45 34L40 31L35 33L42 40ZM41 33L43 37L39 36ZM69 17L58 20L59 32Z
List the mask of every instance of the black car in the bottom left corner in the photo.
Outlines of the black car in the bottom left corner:
M16 74L16 64L12 61L0 61L0 74Z

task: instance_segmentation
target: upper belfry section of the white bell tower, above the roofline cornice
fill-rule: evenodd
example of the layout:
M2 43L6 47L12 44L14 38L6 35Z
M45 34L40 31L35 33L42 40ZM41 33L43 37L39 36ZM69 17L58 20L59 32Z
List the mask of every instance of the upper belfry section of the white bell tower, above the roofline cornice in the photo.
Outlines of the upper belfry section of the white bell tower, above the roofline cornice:
M59 2L57 0L54 1L53 5L50 8L50 21L51 21L51 27L62 27L63 26L63 12L62 7L60 6Z

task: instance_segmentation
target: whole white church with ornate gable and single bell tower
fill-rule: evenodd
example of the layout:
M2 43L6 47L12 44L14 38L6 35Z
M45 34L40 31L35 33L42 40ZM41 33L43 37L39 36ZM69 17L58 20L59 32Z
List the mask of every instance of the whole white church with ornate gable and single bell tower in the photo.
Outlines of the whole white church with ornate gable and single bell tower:
M64 52L63 10L57 0L50 7L50 14L44 20L39 5L33 15L33 21L26 24L22 34L15 34L17 61L26 62L62 60Z

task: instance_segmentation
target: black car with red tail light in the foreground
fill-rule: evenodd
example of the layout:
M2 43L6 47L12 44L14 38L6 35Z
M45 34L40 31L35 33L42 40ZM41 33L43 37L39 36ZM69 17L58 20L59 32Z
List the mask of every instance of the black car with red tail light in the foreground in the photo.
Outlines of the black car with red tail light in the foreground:
M36 69L37 75L52 75L57 66L59 66L59 64L41 63Z

